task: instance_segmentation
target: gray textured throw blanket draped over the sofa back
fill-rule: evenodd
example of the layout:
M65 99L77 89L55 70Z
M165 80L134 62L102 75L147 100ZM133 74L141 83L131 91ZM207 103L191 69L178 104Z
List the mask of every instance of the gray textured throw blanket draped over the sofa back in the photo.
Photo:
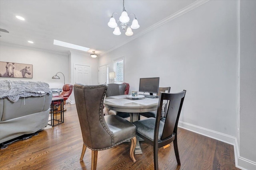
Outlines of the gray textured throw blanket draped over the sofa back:
M0 80L0 98L17 102L19 98L51 94L49 84L21 80Z

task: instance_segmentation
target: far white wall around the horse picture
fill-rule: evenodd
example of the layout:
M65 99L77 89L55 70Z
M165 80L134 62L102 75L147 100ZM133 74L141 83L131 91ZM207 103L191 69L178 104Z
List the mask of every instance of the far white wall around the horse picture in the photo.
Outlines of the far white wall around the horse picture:
M70 83L68 76L68 55L38 51L22 46L0 45L0 61L33 65L33 78L3 78L0 80L25 80L42 81L49 84L50 88L62 88L64 77L58 73L60 80L52 79L57 72L65 75L66 83ZM1 73L2 74L2 73Z

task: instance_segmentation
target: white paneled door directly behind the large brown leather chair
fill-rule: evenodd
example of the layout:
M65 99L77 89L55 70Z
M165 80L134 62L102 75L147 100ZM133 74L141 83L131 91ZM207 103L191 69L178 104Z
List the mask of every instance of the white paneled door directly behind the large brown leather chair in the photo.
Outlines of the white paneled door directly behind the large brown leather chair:
M91 66L75 65L75 83L91 85Z

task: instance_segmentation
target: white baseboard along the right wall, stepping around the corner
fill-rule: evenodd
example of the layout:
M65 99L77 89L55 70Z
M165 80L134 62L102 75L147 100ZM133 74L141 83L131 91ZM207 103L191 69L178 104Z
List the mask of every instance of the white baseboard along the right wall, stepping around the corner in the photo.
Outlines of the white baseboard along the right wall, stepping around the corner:
M256 170L256 162L253 162L240 156L237 139L235 137L226 135L224 133L212 131L210 129L206 129L203 127L195 126L189 123L185 123L182 121L179 121L178 127L233 145L236 167L240 168L241 170Z

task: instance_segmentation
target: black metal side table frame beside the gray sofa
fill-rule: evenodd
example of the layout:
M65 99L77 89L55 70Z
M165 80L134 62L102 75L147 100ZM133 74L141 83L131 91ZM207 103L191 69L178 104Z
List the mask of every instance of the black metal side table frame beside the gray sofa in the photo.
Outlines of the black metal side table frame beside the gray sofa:
M58 102L58 104L54 105L54 102ZM60 107L60 111L57 111L56 106ZM48 123L48 125L51 125L53 127L53 126L59 125L60 123L64 123L64 99L63 98L55 98L55 99L52 98L50 111L51 111L50 112L51 119L48 121L50 121L51 123L50 124ZM57 119L57 113L60 113L60 119ZM54 119L54 114L55 114L55 119ZM54 125L54 121L58 121L58 123Z

